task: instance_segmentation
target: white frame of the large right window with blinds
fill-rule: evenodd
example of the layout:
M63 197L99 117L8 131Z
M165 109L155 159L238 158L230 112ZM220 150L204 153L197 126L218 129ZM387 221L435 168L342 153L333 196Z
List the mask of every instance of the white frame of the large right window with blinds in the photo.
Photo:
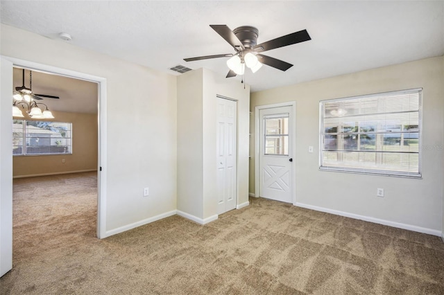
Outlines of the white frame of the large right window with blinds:
M400 132L393 132L391 134L418 134L418 170L417 172L411 172L408 170L403 170L403 171L397 171L397 170L388 170L388 169L384 169L384 167L382 167L382 163L377 163L375 164L375 166L379 166L377 168L370 168L367 166L363 166L361 168L356 168L356 167L347 167L346 166L346 162L342 162L341 165L331 165L331 162L329 163L329 166L323 166L323 156L324 156L324 152L329 152L329 150L325 149L325 142L323 141L323 138L325 137L325 135L327 135L328 133L325 132L325 129L327 127L325 127L325 104L326 103L331 103L331 102L344 102L344 101L350 101L350 100L363 100L368 98L370 99L375 99L375 98L380 98L381 100L384 99L384 96L401 96L401 95L405 95L405 94L409 94L409 93L418 93L418 132L403 132L402 131L402 125L401 125L401 129ZM413 113L413 111L410 111L411 113ZM392 112L384 112L384 111L380 111L377 112L375 114L366 114L363 116L382 116L382 114L395 114ZM346 124L346 116L344 116L345 119L343 120L344 125ZM350 119L349 119L350 120ZM376 121L376 122L381 122ZM362 126L362 125L357 125ZM338 126L339 127L339 126ZM355 126L356 127L356 126ZM360 127L359 127L360 128ZM338 131L333 132L334 134L339 134ZM351 132L350 134L373 134L376 135L377 134L381 134L381 138L382 138L382 145L384 145L384 135L388 134L387 131L384 132L377 132L375 130L372 131L368 131L368 132L361 132L361 129L358 129L357 132ZM362 96L350 96L350 97L345 97L345 98L336 98L336 99L331 99L331 100L320 100L319 101L319 170L322 171L334 171L334 172L346 172L346 173L354 173L354 174L364 174L364 175L380 175L380 176L389 176L389 177L407 177L407 178L413 178L413 179L422 179L422 133L423 133L423 127L422 127L422 88L416 88L416 89L405 89L405 90L400 90L400 91L387 91L387 92L382 92L382 93L373 93L373 94L367 94L367 95L362 95ZM341 133L342 136L346 135L345 132ZM348 135L348 134L347 134ZM379 139L380 140L380 139ZM359 142L358 142L359 141ZM337 143L336 143L337 144ZM361 145L361 137L359 136L357 138L357 145L360 146ZM353 150L353 151L347 151L345 149L341 150L341 152L363 152L363 150L361 150L360 148L358 148L357 150ZM403 152L398 151L398 152L391 152L391 151L387 151L387 150L375 150L374 152L372 151L365 151L365 152L369 152L369 153L373 153L375 154L375 157L384 157L387 154L390 153L398 153L398 154L403 154ZM409 152L410 154L416 154L416 152ZM339 163L339 162L338 162ZM353 162L350 162L353 163ZM356 162L355 162L356 163ZM378 169L379 168L379 169Z

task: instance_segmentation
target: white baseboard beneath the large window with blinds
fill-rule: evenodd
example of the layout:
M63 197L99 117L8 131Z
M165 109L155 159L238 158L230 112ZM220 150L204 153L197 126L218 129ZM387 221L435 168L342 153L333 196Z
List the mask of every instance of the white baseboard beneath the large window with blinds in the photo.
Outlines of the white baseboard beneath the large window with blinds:
M321 211L321 212L325 212L325 213L331 213L334 215L350 217L350 218L354 218L355 220L364 220L367 222L373 222L373 223L377 223L377 224L384 224L384 225L388 225L388 226L393 226L393 227L397 227L398 229L407 229L409 231L417 231L418 233L427 233L429 235L437 235L438 237L443 235L443 233L441 231L437 231L435 229L427 229L425 227L415 226L415 225L411 225L411 224L392 222L389 220L380 220L379 218L368 217L368 216L364 216L364 215L358 215L358 214L353 214L353 213L348 213L348 212L343 212L343 211L337 211L337 210L333 210L333 209L329 209L329 208L312 206L312 205L307 205L307 204L302 204L302 203L296 203L295 206L307 208L307 209L311 209L311 210L315 210L315 211Z

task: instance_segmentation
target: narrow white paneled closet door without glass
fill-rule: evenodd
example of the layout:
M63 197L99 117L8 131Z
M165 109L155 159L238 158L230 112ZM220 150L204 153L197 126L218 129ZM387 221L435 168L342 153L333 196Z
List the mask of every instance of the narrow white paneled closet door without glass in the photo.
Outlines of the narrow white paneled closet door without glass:
M217 213L236 208L237 102L217 99Z

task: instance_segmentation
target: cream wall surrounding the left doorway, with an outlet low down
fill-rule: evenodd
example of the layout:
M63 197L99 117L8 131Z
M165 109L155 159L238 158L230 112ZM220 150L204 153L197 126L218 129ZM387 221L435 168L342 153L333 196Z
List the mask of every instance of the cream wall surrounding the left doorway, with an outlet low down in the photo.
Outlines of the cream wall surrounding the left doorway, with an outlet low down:
M176 76L4 24L1 55L106 79L105 236L176 210Z

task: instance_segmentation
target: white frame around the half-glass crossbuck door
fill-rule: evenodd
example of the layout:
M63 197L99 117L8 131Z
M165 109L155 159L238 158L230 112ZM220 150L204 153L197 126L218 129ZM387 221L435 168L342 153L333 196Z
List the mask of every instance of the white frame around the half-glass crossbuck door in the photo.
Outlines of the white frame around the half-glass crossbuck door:
M289 101L289 102L280 102L275 103L273 105L258 105L255 107L255 196L259 197L261 194L260 191L260 124L261 124L261 118L259 117L259 111L261 109L271 109L275 107L291 107L291 120L289 124L291 124L291 129L293 130L293 133L291 134L291 155L293 158L293 163L296 162L296 101ZM291 195L293 199L293 205L296 206L296 168L295 165L291 166L291 172L292 177L290 179L291 184Z

